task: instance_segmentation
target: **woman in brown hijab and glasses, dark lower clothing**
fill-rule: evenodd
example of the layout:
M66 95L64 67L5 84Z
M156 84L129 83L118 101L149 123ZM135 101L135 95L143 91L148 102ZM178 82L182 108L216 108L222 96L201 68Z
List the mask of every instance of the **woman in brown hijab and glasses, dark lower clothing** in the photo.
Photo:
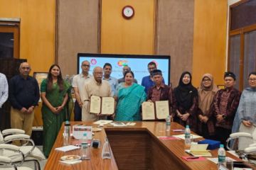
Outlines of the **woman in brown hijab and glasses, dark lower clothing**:
M198 133L207 139L213 139L215 135L214 117L210 108L217 91L213 76L203 74L201 87L198 89Z

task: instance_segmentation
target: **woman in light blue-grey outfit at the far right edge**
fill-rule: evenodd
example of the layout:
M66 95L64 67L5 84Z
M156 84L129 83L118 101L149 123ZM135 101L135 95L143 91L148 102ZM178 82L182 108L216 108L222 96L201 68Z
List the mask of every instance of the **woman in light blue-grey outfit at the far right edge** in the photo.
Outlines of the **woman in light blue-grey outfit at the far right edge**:
M256 125L256 72L251 72L249 74L249 86L242 91L242 96L240 98L238 110L235 113L235 119L233 122L232 132L249 132L255 135L255 125ZM242 141L244 140L244 141ZM246 146L250 144L247 138L239 140L238 147Z

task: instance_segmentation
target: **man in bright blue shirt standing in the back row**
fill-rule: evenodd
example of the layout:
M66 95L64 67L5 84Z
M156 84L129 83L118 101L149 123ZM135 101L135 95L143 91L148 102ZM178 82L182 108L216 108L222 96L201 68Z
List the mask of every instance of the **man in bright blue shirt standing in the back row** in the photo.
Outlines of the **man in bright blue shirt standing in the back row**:
M149 91L149 88L151 86L154 86L155 83L154 83L154 80L153 80L153 77L152 77L152 74L151 72L154 71L155 69L157 69L156 67L156 63L155 62L149 62L148 64L148 71L149 71L149 76L146 76L146 77L143 77L142 78L142 86L145 87L145 92L147 94L147 92ZM164 84L164 79L163 79L163 84Z

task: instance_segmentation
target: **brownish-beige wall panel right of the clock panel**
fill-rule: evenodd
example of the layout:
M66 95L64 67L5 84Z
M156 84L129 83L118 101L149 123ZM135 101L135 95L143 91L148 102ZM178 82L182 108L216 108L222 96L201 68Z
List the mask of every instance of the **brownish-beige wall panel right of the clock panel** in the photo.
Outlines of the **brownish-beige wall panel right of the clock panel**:
M194 0L159 0L157 55L171 55L171 84L192 70ZM161 69L161 68L159 68Z

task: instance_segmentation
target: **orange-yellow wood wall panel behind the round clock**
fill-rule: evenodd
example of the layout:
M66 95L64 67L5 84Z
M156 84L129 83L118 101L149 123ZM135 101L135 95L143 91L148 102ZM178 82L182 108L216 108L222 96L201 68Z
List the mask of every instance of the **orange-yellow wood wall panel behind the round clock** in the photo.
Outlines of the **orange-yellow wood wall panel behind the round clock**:
M154 55L155 2L102 0L101 52ZM127 5L134 8L134 16L128 20L122 17L122 8Z

